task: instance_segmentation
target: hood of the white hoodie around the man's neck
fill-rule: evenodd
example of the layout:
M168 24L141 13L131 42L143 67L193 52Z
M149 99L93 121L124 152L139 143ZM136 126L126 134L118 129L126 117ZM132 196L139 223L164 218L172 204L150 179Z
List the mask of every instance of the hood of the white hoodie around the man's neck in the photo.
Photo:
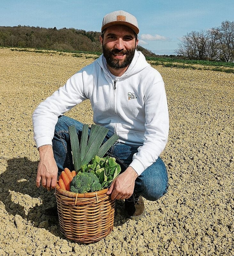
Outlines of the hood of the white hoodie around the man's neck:
M100 65L100 67L103 69L104 73L107 76L111 77L109 74L109 70L107 68L107 61L104 55L102 54L96 61ZM150 67L150 64L147 63L145 56L140 51L135 50L135 54L132 59L132 62L127 68L127 70L123 73L123 75L121 75L121 78L138 73L139 71L143 70L146 67Z

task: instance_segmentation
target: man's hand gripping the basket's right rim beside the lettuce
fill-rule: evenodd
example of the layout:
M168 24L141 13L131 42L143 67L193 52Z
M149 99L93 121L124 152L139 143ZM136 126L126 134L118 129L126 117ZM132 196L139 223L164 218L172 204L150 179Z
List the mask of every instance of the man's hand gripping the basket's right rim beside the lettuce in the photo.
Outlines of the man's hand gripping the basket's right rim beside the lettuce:
M131 167L128 168L112 181L107 195L111 194L111 199L128 199L133 194L135 180L138 177L136 171Z

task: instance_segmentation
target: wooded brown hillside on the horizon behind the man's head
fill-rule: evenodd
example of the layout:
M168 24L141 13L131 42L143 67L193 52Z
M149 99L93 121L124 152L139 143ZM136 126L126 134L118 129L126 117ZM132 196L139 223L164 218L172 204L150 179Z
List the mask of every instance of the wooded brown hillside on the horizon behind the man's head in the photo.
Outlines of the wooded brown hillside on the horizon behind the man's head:
M57 29L21 25L0 26L0 46L101 53L100 35L100 32L66 27ZM138 46L137 50L145 56L156 56L141 46Z

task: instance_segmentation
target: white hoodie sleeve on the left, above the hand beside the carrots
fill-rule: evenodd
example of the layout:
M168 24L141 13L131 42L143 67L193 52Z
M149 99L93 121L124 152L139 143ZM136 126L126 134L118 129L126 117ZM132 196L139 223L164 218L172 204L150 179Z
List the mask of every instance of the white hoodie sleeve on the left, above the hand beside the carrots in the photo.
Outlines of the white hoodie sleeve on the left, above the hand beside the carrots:
M82 72L78 72L67 80L67 83L44 100L34 110L33 130L37 148L52 145L54 127L58 116L63 115L87 97L84 93Z

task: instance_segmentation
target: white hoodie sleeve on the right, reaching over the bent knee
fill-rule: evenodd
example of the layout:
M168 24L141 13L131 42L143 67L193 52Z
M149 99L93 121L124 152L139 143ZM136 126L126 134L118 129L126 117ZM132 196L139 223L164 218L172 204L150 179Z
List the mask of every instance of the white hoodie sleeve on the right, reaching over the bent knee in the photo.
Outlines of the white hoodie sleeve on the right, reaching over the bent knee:
M166 146L169 132L167 98L163 80L150 85L145 97L145 140L138 148L138 152L133 155L130 164L138 175L157 160Z

